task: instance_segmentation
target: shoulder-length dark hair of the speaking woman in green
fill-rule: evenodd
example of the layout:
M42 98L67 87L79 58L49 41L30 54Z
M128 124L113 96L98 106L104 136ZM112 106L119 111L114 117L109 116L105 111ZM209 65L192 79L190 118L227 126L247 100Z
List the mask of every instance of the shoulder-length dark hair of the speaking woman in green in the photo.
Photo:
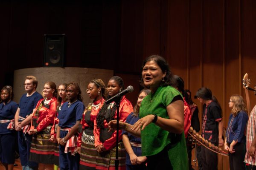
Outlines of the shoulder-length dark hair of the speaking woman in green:
M160 86L172 85L172 72L171 72L170 67L169 67L168 63L166 62L166 60L163 57L161 57L160 55L151 55L144 60L142 69L145 66L146 62L149 62L149 61L156 62L157 65L161 68L162 72L166 73L166 76L163 77L163 81L161 82ZM140 75L140 77L141 77L140 85L145 87L142 74ZM148 88L148 87L146 87L146 88Z

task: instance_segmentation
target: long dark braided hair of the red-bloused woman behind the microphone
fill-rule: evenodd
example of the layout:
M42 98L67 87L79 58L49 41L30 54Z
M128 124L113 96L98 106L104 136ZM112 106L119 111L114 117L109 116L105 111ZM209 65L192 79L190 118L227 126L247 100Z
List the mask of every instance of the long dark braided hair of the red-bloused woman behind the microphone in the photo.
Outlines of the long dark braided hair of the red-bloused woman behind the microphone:
M124 81L122 80L121 77L113 76L109 79L109 81L110 80L115 80L116 83L121 87L121 90L123 89ZM111 96L108 95L106 99L109 99L109 98L111 98ZM108 109L109 107L111 107L110 104L106 105L104 103L101 110L99 111L99 113L96 117L97 128L104 128L104 120L109 122L109 121L114 119L114 116L115 116L115 113L116 113L116 103L114 103L112 109Z

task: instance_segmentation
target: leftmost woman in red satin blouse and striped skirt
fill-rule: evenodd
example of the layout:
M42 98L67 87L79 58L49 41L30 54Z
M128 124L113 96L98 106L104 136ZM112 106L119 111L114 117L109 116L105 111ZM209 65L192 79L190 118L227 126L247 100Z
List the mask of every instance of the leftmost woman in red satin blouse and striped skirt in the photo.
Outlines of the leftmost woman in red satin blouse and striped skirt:
M54 82L44 84L43 96L35 107L31 120L29 134L33 135L29 160L39 163L39 170L52 170L54 160L54 144L49 141L52 125L57 110L57 89ZM23 126L21 122L21 126Z

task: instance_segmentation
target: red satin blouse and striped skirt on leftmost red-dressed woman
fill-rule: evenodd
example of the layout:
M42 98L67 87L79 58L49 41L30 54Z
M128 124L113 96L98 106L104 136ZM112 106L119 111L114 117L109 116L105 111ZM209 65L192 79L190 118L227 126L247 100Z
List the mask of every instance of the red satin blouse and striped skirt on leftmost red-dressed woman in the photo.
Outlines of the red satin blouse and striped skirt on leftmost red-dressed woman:
M31 129L36 129L30 148L30 161L42 164L53 164L54 144L49 141L50 131L54 123L57 99L41 99L32 116Z

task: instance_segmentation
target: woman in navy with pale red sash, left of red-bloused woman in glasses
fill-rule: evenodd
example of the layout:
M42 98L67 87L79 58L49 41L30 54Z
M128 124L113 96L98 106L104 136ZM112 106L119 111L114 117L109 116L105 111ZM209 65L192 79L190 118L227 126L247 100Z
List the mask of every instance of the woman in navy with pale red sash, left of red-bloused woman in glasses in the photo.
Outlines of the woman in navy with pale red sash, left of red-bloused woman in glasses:
M76 82L67 85L67 99L58 114L56 138L60 148L60 170L78 170L80 155L77 152L78 128L84 112L81 90Z

